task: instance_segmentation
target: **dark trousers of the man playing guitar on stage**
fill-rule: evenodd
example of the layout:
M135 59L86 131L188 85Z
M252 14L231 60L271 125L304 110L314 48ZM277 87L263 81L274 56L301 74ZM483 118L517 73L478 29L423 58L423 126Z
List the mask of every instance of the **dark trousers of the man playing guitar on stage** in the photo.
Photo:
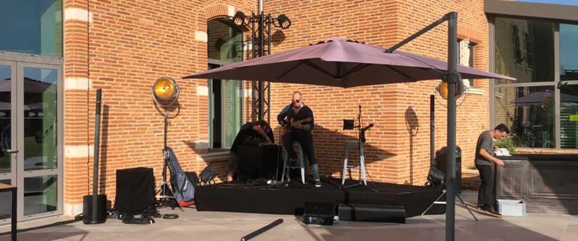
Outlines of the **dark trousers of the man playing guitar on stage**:
M292 143L299 142L299 144L301 144L303 153L305 153L305 155L307 156L307 160L309 160L309 166L311 167L313 180L319 179L317 158L315 158L315 153L313 153L313 137L310 134L299 135L293 132L281 136L281 140L283 140L283 146L285 147L287 153L289 153L289 157L294 160L297 160L297 153L295 153L295 150L293 150Z

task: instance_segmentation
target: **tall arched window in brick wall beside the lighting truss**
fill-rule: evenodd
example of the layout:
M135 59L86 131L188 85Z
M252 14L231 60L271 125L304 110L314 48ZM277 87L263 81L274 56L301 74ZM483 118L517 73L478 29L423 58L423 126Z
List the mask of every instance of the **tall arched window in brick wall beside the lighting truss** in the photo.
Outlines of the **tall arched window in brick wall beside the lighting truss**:
M209 69L243 61L243 32L227 18L208 23ZM243 82L209 81L209 147L230 147L243 124Z

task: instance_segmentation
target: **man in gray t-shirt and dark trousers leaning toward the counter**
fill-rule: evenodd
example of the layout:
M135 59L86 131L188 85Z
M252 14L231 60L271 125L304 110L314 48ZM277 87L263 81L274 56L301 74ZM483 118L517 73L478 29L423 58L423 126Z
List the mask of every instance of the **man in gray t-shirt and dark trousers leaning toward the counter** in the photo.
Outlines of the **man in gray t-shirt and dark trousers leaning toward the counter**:
M477 205L486 213L501 217L496 211L496 198L494 190L494 170L492 170L492 162L499 166L503 166L504 162L494 157L496 147L494 147L494 140L505 138L510 134L510 130L504 124L499 124L491 131L484 131L477 138L476 144L476 168L480 172L480 190L477 195Z

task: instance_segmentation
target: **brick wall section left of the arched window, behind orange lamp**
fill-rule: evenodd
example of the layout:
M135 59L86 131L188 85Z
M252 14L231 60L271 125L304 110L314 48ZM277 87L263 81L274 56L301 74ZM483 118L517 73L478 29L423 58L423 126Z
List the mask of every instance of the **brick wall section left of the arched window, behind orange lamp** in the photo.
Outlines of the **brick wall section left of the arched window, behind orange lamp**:
M182 88L168 146L183 169L198 172L214 160L205 157L207 81L180 77L207 69L210 18L251 12L256 3L64 0L64 5L65 213L81 212L81 196L91 192L97 88L103 89L100 190L109 199L114 201L117 169L150 167L157 184L161 179L164 119L150 92L158 77L173 77Z

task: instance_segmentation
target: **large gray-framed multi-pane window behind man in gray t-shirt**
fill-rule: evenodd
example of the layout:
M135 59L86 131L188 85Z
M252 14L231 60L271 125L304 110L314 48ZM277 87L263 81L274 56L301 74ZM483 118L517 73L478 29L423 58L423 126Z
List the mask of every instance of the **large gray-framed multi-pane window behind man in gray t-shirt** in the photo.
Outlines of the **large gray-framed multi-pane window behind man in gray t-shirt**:
M517 79L495 81L494 123L508 125L520 147L578 149L578 25L494 23L494 71Z

